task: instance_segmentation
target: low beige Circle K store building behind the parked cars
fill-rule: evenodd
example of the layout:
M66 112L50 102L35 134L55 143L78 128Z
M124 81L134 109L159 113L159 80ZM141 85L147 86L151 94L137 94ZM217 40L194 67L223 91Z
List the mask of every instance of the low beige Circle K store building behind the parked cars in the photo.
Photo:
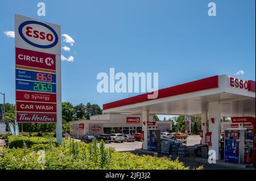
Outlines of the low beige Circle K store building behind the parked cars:
M153 121L153 115L149 116ZM85 134L97 136L98 134L122 133L134 134L142 132L142 115L131 114L105 114L90 116L90 120L71 121L71 136L81 138ZM152 128L159 128L162 132L172 130L171 121L154 121Z

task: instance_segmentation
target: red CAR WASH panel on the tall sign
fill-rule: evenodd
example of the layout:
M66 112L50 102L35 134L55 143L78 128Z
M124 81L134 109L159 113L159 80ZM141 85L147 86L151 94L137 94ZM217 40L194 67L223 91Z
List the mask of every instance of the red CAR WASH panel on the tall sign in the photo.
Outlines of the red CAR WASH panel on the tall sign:
M16 111L56 112L56 104L34 103L34 102L16 102Z

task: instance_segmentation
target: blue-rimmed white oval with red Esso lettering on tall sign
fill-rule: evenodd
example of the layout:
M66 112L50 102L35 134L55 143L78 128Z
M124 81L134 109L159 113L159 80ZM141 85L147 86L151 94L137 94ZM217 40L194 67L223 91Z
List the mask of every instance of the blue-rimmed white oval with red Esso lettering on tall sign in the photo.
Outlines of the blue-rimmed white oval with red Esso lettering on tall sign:
M52 27L34 20L20 24L19 35L28 44L38 48L52 48L59 41Z

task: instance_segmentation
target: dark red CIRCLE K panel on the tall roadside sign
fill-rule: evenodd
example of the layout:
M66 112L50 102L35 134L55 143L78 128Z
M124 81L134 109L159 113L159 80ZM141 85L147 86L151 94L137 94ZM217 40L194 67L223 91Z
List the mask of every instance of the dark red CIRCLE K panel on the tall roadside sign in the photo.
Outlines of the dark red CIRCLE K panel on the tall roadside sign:
M54 54L16 48L16 65L56 70L55 57Z

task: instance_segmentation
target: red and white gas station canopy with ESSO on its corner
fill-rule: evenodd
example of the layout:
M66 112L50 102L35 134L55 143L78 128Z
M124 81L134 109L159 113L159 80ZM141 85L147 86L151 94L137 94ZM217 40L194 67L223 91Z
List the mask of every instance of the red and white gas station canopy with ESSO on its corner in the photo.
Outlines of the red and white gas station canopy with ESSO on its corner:
M255 117L255 81L216 75L158 90L156 99L146 93L103 105L105 113L201 115L209 102L219 102L221 116Z

